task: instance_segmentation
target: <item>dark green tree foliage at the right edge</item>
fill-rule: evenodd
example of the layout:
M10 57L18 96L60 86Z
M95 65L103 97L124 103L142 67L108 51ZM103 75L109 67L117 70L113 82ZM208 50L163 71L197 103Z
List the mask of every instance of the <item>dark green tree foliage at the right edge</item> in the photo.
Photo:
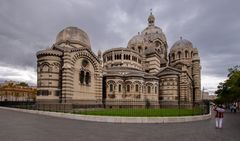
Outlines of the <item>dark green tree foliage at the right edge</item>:
M218 85L215 92L218 95L218 103L229 103L240 100L240 66L228 69L228 79Z

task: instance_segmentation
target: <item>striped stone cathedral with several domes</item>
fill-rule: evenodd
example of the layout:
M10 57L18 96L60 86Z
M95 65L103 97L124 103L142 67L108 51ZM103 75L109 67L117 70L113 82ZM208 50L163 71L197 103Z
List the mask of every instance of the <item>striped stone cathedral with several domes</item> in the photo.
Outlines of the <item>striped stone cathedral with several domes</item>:
M200 101L198 49L180 38L168 53L166 36L152 13L147 21L148 26L127 47L97 54L82 29L63 29L51 48L36 54L37 102Z

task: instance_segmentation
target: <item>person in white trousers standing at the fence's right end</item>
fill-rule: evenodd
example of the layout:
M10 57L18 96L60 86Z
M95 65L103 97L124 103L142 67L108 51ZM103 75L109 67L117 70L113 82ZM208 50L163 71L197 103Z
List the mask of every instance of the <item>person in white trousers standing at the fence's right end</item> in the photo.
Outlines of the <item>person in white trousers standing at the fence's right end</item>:
M223 123L223 113L225 112L225 109L222 105L216 106L214 108L214 111L216 111L215 120L216 120L216 128L222 128Z

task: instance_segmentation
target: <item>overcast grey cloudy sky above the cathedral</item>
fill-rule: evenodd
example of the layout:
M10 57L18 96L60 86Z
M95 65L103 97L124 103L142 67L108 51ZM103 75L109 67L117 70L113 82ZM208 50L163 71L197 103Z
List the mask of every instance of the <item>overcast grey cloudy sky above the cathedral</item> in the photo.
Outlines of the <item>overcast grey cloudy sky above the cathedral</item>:
M36 52L51 46L58 32L77 26L94 52L127 45L147 26L150 9L169 48L179 37L201 56L202 86L209 91L239 65L239 0L1 0L0 81L36 84Z

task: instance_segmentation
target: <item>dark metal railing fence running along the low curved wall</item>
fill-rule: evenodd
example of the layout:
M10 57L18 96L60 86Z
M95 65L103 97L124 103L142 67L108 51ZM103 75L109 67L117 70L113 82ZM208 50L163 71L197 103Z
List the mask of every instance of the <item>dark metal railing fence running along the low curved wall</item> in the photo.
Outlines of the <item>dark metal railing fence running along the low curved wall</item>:
M183 116L204 115L209 113L209 102L160 102L150 100L108 100L94 104L66 104L66 103L35 103L24 102L0 102L0 106L42 110L53 112L70 112L87 115L111 115L111 116Z

